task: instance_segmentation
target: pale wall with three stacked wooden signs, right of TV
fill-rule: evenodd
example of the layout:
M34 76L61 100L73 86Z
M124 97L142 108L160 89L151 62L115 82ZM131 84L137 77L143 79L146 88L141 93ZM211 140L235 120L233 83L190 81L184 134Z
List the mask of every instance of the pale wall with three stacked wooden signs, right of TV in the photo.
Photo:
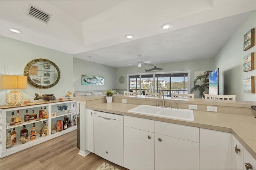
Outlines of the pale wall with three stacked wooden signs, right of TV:
M256 11L250 14L214 57L216 67L220 68L221 95L236 95L236 100L256 101L256 94L243 92L243 78L256 76L256 69L243 72L243 57L256 51L256 46L243 51L244 34L252 28L256 31ZM255 55L254 58L256 58ZM255 66L256 59L254 59Z

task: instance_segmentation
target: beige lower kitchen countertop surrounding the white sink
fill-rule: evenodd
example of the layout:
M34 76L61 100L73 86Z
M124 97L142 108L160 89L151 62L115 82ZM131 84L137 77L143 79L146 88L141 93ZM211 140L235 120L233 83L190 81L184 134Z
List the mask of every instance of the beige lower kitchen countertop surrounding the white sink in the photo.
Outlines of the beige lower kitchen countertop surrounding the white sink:
M86 109L219 130L223 132L231 132L244 146L244 148L246 148L246 150L248 150L248 152L254 157L254 159L256 159L256 118L254 116L231 115L194 110L195 121L181 121L178 119L166 119L128 112L128 110L137 106L138 105L127 103L100 103L97 105L86 106Z

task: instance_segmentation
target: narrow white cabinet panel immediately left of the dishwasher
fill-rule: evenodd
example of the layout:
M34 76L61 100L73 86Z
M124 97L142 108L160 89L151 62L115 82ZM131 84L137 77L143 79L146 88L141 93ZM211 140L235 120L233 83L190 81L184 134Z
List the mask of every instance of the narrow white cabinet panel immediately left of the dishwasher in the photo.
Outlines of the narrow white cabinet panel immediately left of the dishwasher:
M86 150L94 153L93 110L86 109Z

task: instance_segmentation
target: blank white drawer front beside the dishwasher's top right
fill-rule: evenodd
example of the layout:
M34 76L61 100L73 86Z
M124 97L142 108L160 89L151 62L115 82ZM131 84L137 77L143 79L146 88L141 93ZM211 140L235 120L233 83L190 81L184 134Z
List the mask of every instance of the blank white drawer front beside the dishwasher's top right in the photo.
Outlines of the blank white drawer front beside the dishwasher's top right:
M124 126L155 132L155 121L149 119L124 116Z

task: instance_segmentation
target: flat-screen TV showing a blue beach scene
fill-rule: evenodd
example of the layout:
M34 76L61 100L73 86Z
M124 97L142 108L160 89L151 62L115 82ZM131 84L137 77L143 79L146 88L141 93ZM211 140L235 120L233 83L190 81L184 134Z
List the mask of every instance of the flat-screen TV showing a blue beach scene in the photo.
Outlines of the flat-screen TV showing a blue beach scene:
M209 74L209 94L219 95L220 77L219 68Z

